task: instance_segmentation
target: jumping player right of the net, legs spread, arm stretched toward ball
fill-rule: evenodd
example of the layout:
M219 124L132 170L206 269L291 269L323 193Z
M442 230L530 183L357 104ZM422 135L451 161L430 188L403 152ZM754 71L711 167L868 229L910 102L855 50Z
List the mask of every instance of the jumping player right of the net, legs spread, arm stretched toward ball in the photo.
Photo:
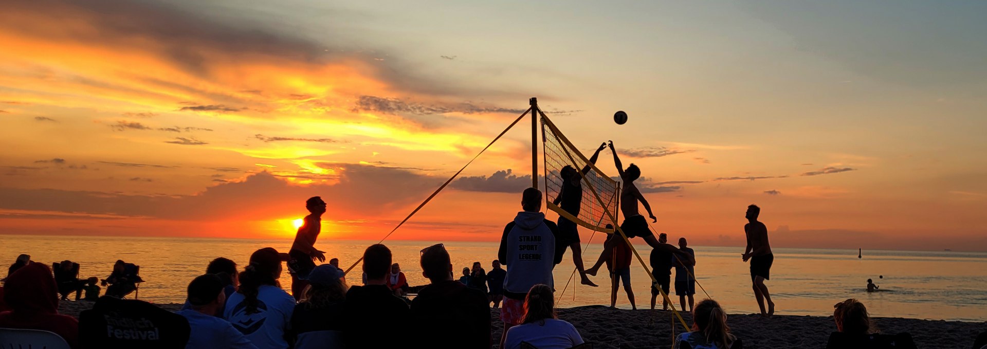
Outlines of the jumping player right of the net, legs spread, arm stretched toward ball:
M621 187L620 192L620 210L624 214L624 223L620 225L621 231L627 236L627 239L632 239L635 237L640 237L645 240L651 248L664 250L668 252L675 253L682 258L687 260L691 264L695 264L696 260L689 253L685 253L678 249L672 244L661 244L656 238L654 238L654 233L651 232L650 228L647 226L647 221L645 216L641 215L641 211L638 209L638 202L640 201L642 205L645 206L647 210L647 215L651 218L653 222L657 222L658 219L654 217L654 213L651 212L651 205L647 203L645 195L641 193L638 186L634 184L634 181L641 177L641 169L637 165L631 164L624 170L624 165L620 162L620 157L617 156L617 150L614 149L613 141L608 143L610 147L610 152L614 155L614 166L617 167L617 173L620 174L621 180L624 182ZM614 232L614 234L619 234ZM611 256L613 253L614 245L620 241L618 239L611 239L610 243L603 244L603 251L600 252L600 258L593 264L592 267L586 269L586 274L596 276L596 272L603 265L606 258Z

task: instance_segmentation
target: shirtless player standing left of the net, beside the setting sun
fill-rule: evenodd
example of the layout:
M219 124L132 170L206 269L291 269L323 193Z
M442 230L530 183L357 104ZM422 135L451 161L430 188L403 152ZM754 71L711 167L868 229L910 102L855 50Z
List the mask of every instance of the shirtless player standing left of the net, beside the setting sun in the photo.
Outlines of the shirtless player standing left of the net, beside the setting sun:
M326 261L325 251L315 248L315 242L322 232L322 214L326 213L326 202L319 196L313 196L305 201L309 215L305 216L295 242L288 251L288 272L291 273L291 295L295 301L302 297L302 291L308 286L308 274L315 269L315 259Z

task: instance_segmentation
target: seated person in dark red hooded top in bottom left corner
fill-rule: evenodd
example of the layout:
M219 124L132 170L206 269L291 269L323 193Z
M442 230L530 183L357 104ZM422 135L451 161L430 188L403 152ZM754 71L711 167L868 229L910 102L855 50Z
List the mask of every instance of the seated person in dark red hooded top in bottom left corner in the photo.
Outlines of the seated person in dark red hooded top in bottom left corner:
M47 265L25 265L7 278L3 289L12 311L0 313L0 327L54 332L70 347L79 347L79 321L58 314L58 288Z

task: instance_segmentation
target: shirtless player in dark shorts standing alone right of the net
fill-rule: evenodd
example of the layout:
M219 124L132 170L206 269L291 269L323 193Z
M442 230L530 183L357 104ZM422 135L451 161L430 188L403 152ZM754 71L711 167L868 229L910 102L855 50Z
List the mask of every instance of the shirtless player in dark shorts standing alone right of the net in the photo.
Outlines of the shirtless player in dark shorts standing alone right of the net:
M748 223L743 226L747 247L744 248L742 257L745 262L750 259L750 281L761 314L771 316L775 314L775 303L771 302L771 294L764 285L764 280L771 279L771 264L775 262L775 255L771 253L771 244L768 244L768 228L757 221L760 214L761 208L757 205L747 206ZM768 303L767 310L764 309L765 301Z

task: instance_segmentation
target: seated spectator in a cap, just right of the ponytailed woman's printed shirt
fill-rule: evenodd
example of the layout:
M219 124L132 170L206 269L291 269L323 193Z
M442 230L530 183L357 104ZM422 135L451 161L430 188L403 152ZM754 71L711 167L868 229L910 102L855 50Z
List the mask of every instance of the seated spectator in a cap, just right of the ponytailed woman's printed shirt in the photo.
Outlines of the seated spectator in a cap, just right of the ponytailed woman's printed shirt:
M343 347L345 275L333 264L319 265L309 273L309 285L291 314L291 329L297 334L295 349Z

